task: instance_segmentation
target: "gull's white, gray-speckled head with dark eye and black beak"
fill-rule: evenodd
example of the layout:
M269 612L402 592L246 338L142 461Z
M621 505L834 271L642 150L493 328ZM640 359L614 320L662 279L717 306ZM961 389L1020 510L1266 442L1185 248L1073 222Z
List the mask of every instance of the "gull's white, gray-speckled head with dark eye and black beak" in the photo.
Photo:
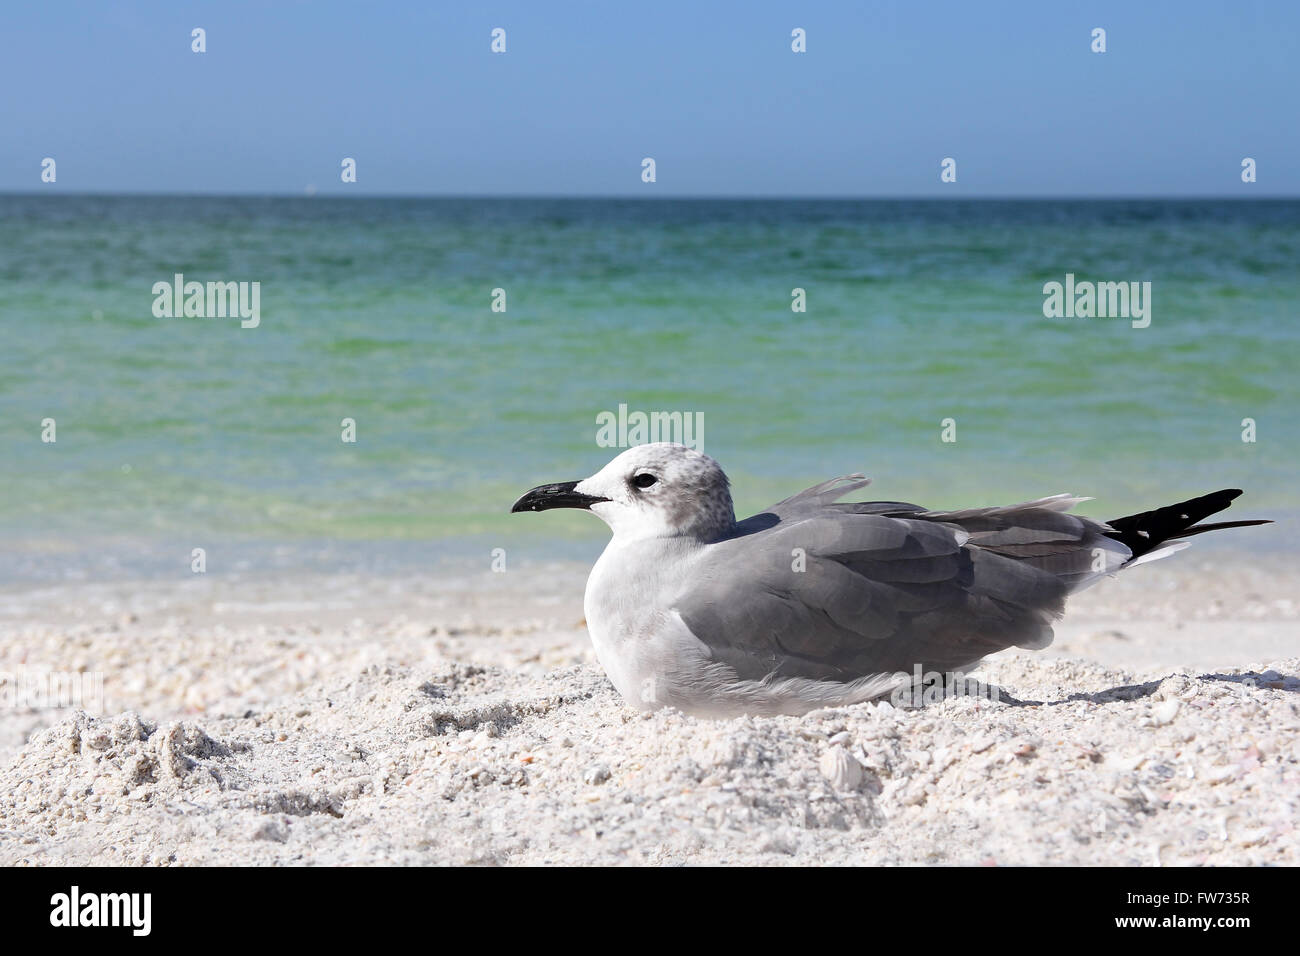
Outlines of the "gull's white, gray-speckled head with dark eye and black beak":
M719 537L736 523L722 466L685 445L660 441L624 451L589 479L540 485L511 511L586 509L616 540Z

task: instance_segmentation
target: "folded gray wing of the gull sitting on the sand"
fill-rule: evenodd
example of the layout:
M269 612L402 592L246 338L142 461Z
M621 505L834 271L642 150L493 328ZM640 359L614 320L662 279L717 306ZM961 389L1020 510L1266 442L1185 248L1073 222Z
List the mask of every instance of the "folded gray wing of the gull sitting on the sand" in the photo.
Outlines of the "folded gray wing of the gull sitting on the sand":
M694 568L676 609L740 678L954 671L1041 648L1066 596L1130 557L1106 525L1066 514L1078 498L968 511L836 503L866 484L857 479L741 523Z

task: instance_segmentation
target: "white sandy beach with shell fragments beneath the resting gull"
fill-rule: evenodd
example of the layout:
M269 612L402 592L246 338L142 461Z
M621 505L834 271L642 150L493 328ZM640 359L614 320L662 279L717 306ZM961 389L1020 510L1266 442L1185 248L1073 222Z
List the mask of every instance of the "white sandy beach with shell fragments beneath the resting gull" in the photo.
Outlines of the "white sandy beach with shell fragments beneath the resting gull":
M1225 570L1227 568L1227 570ZM922 709L624 706L586 568L10 591L0 864L1296 864L1290 558L1213 549L1078 596L1056 644ZM12 689L12 688L10 688Z

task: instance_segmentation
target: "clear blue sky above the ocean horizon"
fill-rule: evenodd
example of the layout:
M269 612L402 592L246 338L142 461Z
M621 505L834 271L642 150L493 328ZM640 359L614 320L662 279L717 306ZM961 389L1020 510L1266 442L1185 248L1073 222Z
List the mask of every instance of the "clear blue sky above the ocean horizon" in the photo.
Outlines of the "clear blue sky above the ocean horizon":
M47 0L4 21L6 193L1300 195L1294 0Z

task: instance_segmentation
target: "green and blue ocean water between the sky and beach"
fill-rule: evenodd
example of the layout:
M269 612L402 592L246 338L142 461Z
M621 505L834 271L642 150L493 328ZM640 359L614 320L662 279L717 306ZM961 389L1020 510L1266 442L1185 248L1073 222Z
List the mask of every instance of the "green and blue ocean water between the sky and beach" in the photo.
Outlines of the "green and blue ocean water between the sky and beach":
M176 273L259 282L260 325L155 317ZM1066 273L1150 282L1149 326L1045 317ZM586 554L590 515L507 511L620 405L701 416L742 511L861 470L1287 518L1300 202L0 196L0 333L10 554Z

